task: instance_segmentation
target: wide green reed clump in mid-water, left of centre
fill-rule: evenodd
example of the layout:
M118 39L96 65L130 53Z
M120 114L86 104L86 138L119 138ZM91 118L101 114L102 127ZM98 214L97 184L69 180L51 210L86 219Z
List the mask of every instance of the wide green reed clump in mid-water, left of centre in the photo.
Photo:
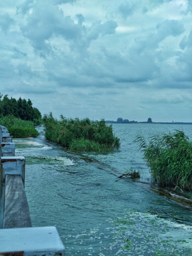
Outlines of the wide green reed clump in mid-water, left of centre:
M45 115L46 138L72 151L112 151L119 147L119 139L114 136L112 126L105 120L91 122L90 119L54 119L52 114Z

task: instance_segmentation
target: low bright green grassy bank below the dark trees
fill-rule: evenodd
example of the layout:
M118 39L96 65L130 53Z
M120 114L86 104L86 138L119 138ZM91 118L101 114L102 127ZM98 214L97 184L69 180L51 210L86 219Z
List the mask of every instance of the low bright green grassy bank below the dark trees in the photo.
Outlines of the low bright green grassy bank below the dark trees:
M12 115L1 117L0 124L9 130L14 138L37 137L38 131L34 128L32 121L24 121Z

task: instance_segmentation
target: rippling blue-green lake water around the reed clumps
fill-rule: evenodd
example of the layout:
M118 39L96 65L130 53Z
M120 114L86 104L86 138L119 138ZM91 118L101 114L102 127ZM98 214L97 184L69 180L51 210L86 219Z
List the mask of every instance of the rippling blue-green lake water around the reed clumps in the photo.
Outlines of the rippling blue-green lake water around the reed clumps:
M152 188L133 142L141 132L174 129L192 137L190 124L113 124L121 147L107 154L69 154L43 134L14 139L16 155L26 157L32 225L55 225L66 256L192 255L191 210L170 200L188 201L190 207L191 192L169 198ZM117 181L130 168L142 170L139 182Z

